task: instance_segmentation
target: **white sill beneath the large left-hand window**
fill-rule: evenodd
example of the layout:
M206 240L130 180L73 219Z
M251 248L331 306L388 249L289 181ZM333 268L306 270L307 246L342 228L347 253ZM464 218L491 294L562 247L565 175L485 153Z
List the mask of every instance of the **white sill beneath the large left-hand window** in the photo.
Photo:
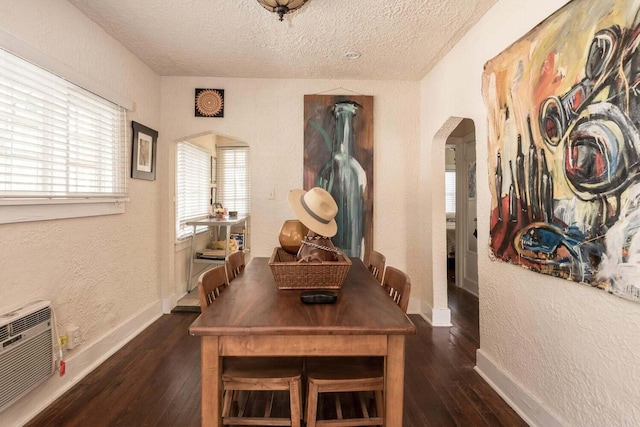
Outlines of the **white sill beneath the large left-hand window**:
M101 200L0 200L0 224L124 213L126 198Z

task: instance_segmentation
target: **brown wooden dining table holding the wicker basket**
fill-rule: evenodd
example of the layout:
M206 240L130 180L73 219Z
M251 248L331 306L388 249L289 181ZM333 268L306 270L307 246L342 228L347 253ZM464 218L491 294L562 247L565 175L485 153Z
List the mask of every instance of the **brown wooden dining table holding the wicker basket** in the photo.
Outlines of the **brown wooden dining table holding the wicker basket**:
M230 356L385 358L384 421L402 426L405 336L415 326L358 258L332 304L278 290L268 258L254 258L189 327L200 336L202 425L222 426L222 363Z

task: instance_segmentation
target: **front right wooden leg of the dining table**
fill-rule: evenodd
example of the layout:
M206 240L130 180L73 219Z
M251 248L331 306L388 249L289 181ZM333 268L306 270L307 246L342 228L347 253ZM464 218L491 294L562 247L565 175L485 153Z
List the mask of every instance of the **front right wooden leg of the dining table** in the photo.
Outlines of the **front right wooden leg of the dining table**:
M404 402L404 335L387 338L387 363L384 376L384 425L402 427Z

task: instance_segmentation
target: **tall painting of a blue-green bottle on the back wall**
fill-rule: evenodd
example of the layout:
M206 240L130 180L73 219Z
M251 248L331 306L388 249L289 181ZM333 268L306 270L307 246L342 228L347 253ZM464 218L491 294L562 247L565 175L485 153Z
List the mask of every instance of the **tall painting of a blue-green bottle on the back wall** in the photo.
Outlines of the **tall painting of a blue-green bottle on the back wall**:
M304 188L338 204L334 245L365 259L373 248L373 97L305 95Z

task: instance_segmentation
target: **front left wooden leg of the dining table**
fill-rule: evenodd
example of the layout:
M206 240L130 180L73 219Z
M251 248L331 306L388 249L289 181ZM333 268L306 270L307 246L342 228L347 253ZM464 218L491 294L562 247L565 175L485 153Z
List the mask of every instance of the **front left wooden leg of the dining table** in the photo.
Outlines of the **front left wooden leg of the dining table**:
M222 426L222 358L218 352L218 337L203 336L201 348L202 426Z

